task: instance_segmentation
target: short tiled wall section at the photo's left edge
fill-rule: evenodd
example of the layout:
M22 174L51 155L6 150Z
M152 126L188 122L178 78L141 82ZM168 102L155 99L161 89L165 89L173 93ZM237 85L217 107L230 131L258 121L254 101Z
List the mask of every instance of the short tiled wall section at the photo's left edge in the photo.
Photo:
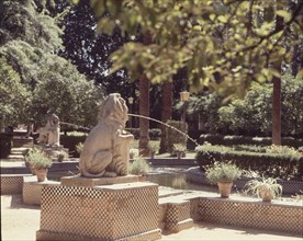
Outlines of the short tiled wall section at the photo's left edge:
M22 194L23 175L1 175L1 195Z

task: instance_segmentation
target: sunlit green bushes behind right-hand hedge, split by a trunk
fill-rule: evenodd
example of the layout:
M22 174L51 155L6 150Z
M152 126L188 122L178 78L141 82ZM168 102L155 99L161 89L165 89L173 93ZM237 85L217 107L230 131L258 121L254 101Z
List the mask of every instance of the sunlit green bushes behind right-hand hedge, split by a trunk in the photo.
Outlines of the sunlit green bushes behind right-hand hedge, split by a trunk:
M303 134L302 79L282 77L282 135L299 137ZM222 105L217 93L205 93L189 101L188 114L200 115L204 133L248 136L270 136L272 84L252 83L244 99L234 99Z

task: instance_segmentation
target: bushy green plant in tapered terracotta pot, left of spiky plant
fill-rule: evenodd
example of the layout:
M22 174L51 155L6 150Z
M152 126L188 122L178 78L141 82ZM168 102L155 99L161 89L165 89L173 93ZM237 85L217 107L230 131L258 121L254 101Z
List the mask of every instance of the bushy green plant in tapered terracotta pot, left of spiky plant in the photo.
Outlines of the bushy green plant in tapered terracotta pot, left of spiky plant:
M229 197L233 182L237 180L242 170L232 162L214 162L205 168L205 176L211 184L217 184L221 197Z

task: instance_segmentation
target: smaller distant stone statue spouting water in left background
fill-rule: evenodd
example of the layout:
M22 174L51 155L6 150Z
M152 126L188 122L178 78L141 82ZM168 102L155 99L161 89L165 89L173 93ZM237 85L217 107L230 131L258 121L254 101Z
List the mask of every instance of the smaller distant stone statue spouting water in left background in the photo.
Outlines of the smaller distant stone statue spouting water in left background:
M37 130L38 144L45 144L48 146L60 146L60 127L59 127L59 117L55 114L52 114L47 118L47 123L44 127Z

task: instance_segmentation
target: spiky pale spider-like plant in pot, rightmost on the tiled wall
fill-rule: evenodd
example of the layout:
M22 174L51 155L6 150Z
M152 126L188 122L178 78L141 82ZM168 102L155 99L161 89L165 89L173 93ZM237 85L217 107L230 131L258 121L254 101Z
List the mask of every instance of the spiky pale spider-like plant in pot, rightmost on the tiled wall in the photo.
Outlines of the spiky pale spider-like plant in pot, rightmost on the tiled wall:
M262 202L271 202L271 199L282 195L282 185L277 183L277 179L265 177L261 180L250 180L245 184L247 192L257 195Z

